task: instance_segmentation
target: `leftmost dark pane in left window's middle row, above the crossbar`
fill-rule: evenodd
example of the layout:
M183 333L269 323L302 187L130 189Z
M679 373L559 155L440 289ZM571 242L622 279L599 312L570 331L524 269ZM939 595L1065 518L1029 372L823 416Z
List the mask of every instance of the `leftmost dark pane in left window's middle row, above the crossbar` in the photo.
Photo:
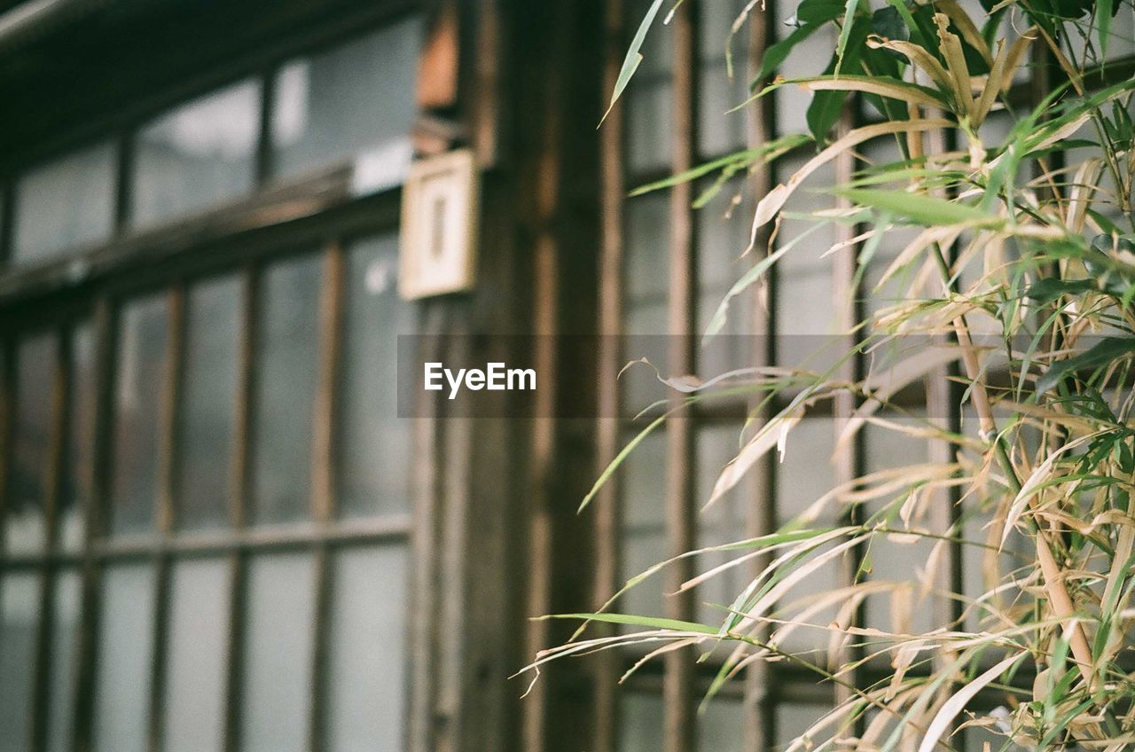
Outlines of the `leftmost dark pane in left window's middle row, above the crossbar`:
M42 551L45 542L44 501L51 456L54 411L56 339L25 340L17 353L16 416L12 436L11 493L7 515L8 551Z

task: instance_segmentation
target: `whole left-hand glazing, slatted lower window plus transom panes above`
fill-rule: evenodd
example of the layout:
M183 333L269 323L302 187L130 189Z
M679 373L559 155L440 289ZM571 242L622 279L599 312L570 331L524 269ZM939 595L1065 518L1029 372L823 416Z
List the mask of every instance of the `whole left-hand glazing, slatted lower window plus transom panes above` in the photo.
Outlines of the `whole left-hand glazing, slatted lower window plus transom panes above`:
M148 118L125 154L28 170L12 261L109 242L116 217L149 242L362 152L397 186L420 35L336 41ZM368 201L310 242L221 236L5 327L0 752L403 749L412 442L389 353L415 321L397 197Z

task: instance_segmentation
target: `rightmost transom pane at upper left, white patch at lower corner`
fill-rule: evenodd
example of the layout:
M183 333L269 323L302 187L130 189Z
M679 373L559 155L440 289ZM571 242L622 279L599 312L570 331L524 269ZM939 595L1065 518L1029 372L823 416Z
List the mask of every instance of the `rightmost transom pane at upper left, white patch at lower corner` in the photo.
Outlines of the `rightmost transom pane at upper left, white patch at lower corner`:
M277 174L293 176L365 154L382 176L368 187L401 183L412 156L421 35L421 20L411 18L285 66L272 116Z

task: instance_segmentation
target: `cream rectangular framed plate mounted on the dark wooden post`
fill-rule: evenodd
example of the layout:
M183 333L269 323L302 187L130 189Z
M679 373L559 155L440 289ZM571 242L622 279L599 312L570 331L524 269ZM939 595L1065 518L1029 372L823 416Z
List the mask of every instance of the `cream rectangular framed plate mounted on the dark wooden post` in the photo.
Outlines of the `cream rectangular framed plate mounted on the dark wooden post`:
M411 166L402 193L398 249L398 292L406 300L473 286L477 189L477 166L469 149Z

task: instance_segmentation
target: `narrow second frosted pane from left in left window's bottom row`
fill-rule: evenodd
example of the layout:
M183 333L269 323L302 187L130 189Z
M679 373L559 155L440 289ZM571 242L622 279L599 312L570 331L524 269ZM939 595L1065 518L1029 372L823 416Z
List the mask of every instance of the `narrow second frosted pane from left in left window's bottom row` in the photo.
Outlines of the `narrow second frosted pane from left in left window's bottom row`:
M72 569L56 577L51 634L51 686L48 710L48 750L69 752L75 721L75 645L79 629L82 578Z

